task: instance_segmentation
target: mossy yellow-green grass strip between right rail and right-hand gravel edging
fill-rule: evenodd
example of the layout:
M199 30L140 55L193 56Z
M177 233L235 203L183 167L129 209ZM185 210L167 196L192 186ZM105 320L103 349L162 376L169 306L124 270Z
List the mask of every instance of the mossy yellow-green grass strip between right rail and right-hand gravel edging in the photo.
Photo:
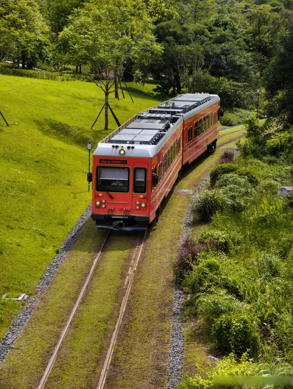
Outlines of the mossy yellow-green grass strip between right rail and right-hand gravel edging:
M196 189L220 154L216 150L191 163L173 189ZM172 190L158 223L147 232L105 389L165 387L174 293L172 260L190 197Z

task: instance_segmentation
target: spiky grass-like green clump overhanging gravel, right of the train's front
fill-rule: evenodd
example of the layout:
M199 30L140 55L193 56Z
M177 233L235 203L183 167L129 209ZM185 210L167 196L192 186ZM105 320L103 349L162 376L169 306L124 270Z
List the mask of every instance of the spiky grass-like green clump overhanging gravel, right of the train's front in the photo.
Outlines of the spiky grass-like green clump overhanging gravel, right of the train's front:
M195 200L195 210L210 219L218 210L229 209L232 203L229 196L222 189L202 191Z

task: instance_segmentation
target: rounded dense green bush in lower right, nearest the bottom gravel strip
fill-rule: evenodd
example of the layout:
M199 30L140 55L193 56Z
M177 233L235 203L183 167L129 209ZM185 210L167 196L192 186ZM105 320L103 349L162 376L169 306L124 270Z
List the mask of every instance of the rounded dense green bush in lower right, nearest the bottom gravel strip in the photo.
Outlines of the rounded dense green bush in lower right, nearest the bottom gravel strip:
M250 355L256 355L260 349L256 324L245 313L221 315L214 322L211 333L222 352L233 352L240 356L249 350Z

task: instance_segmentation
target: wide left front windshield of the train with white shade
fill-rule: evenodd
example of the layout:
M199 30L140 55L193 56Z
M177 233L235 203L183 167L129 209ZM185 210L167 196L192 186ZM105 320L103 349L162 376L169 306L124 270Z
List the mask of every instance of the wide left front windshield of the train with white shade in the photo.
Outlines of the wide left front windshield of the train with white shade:
M96 190L129 192L129 168L98 166Z

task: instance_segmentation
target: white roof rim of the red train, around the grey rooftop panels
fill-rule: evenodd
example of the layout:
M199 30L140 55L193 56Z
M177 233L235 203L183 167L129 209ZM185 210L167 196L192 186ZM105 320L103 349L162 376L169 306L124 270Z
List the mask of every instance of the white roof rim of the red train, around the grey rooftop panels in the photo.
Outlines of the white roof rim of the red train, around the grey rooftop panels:
M120 126L117 130L113 131L110 135L108 135L106 138L101 140L98 143L98 146L97 146L96 150L94 151L93 155L94 156L102 156L102 157L107 156L109 158L120 158L120 159L121 158L129 158L129 157L153 158L153 156L158 154L160 149L168 142L168 139L170 139L170 137L172 137L172 134L181 125L183 119L184 120L188 120L191 116L197 114L198 112L200 112L202 110L208 109L211 105L213 105L214 103L216 103L216 102L218 102L220 100L218 95L207 95L207 94L203 95L201 93L185 94L185 95L177 96L177 98L180 98L180 100L181 100L182 97L183 98L189 98L189 102L191 100L195 100L195 99L200 99L200 102L202 102L203 99L204 99L205 102L200 103L199 106L189 110L189 112L186 112L185 114L180 114L180 115L177 114L176 116L180 116L179 119L176 121L176 123L170 124L170 129L163 136L163 138L161 138L161 140L157 144L155 144L155 145L134 144L133 145L134 149L128 150L127 149L127 145L128 144L125 144L125 142L123 142L123 143L122 142L121 143L115 142L115 145L118 145L119 147L117 149L112 147L113 143L109 143L109 140L111 138L113 138L115 135L117 135L121 130L126 128L130 123L132 123L137 118L137 115L135 115L130 120L128 120L126 123L122 124L122 126ZM207 100L207 99L209 99L209 100ZM174 99L171 99L171 100L168 100L167 103L169 105L172 105L173 101L174 101ZM198 100L196 100L196 101L198 101ZM158 105L156 105L156 107L152 107L152 108L149 108L149 109L155 109L155 108L157 108L159 106L161 107L165 103L166 102L158 104ZM143 112L148 112L149 109L147 109L147 110L145 110ZM125 131L123 131L123 132L125 132ZM125 156L121 156L119 154L119 150L121 149L121 146L123 146L125 151L126 151Z

